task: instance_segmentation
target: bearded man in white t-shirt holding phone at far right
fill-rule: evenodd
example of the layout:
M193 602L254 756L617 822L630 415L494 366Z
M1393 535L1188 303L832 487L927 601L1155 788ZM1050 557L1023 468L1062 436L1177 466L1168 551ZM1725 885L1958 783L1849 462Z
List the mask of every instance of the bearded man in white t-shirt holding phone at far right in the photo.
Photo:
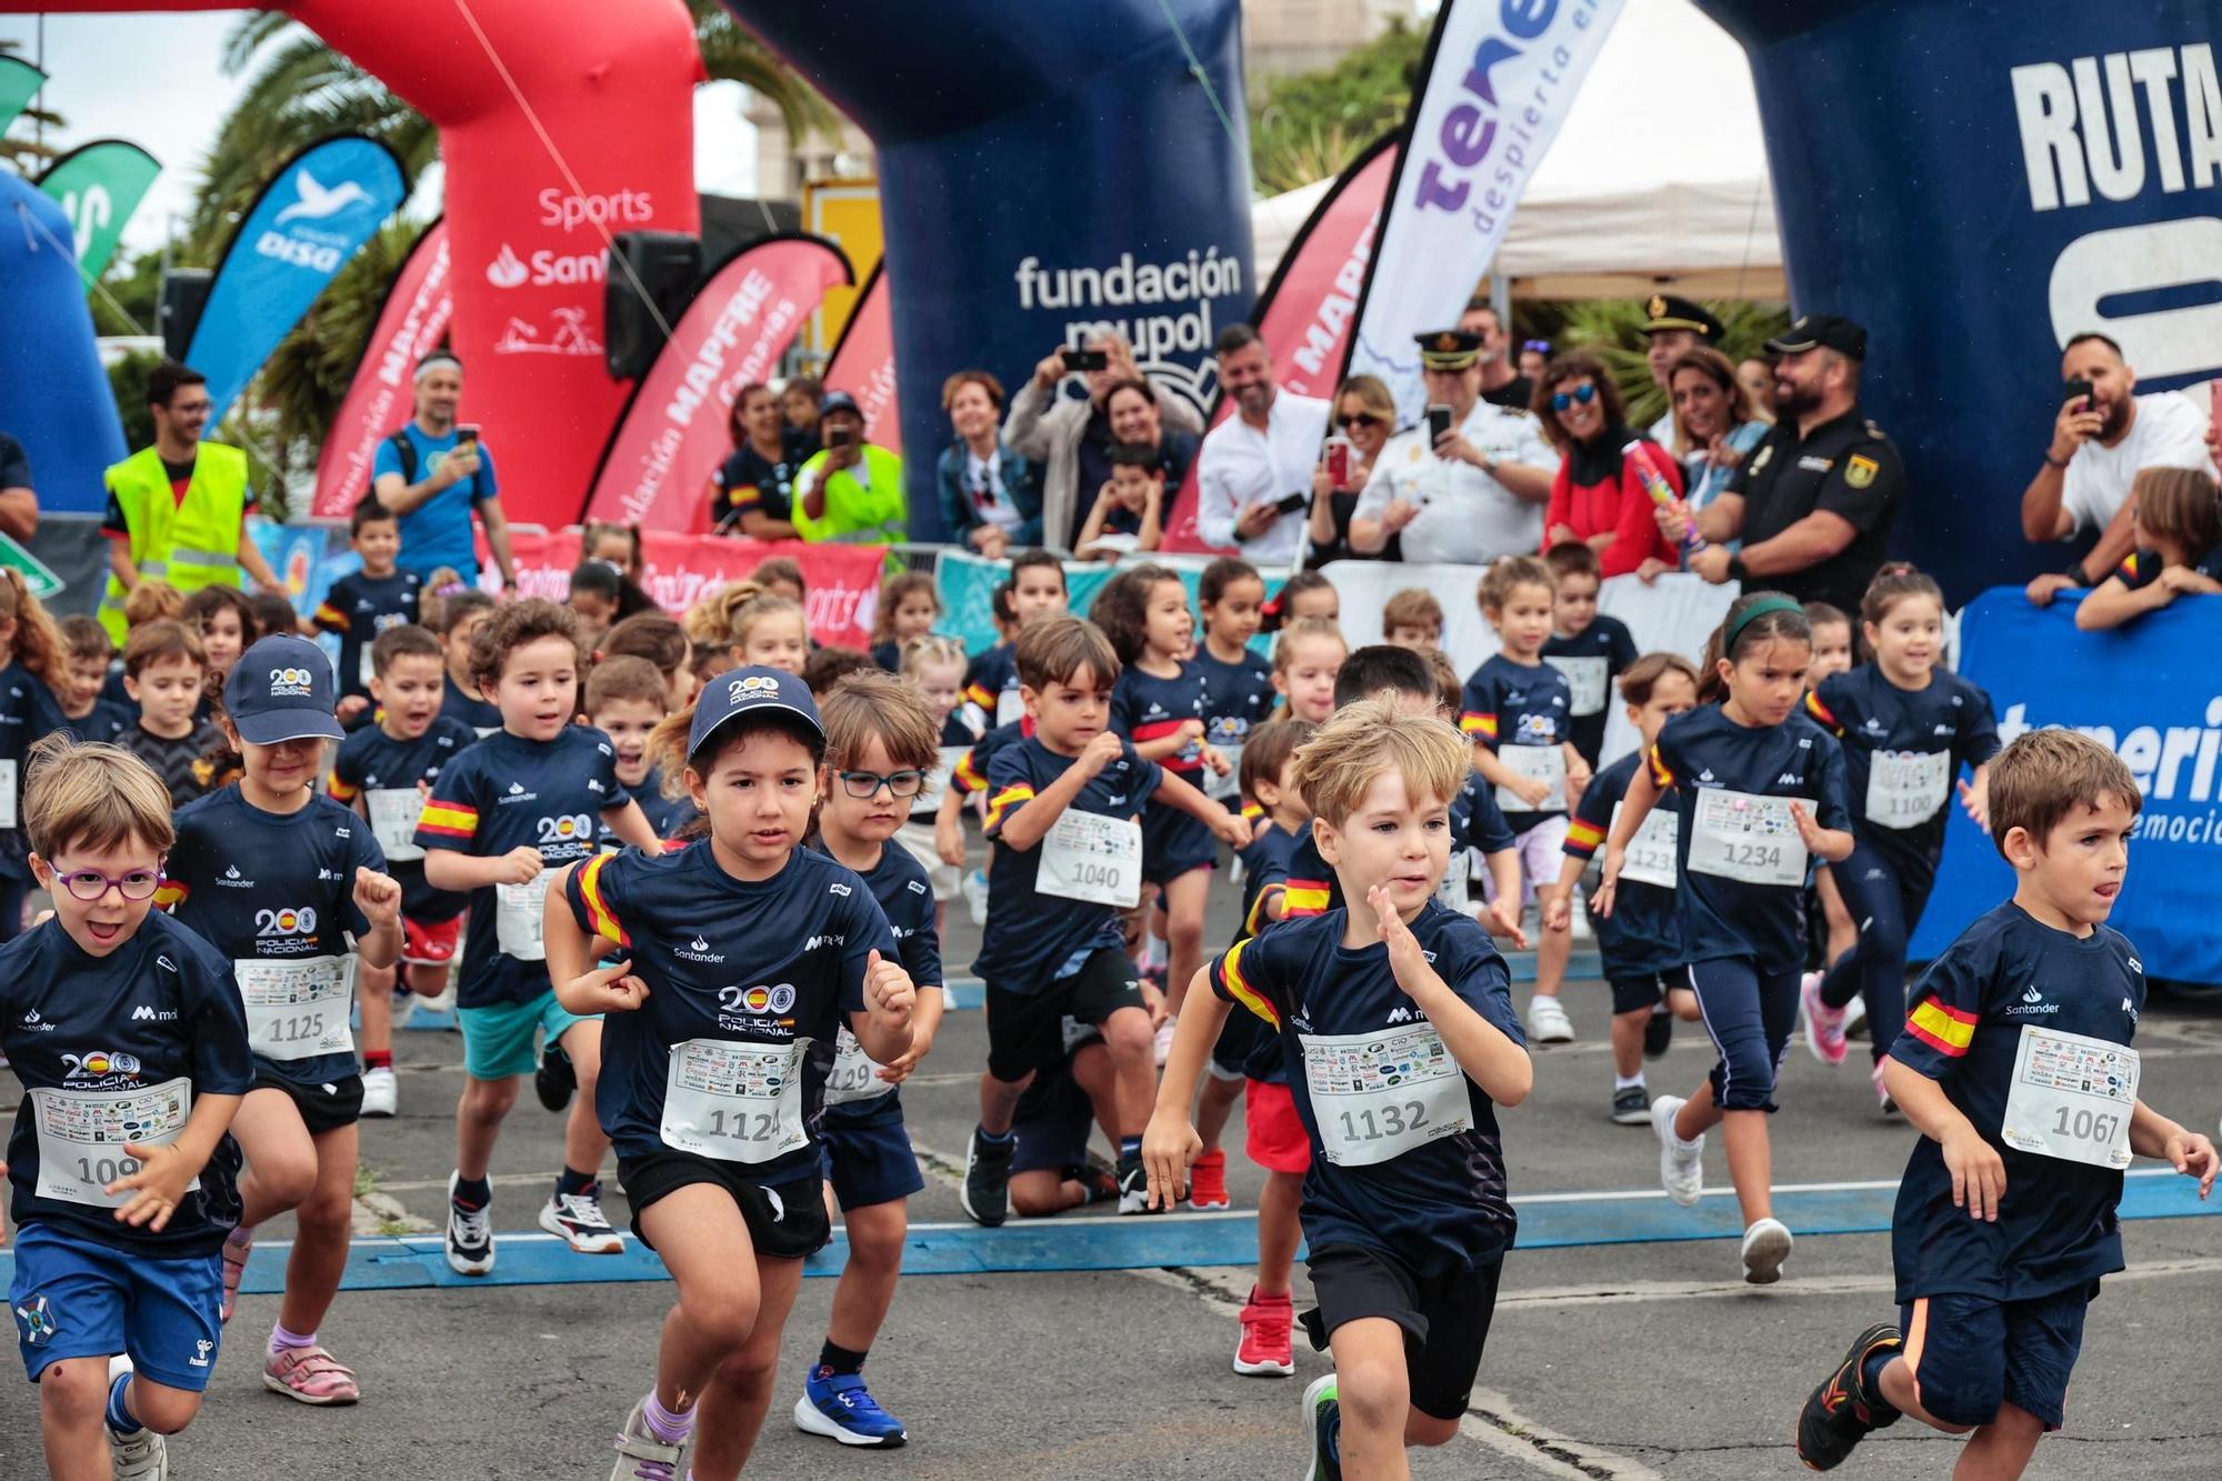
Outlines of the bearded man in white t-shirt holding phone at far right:
M2029 600L2051 605L2066 587L2095 587L2135 540L2129 485L2140 467L2209 467L2206 416L2175 391L2138 396L2138 371L2104 334L2078 334L2060 356L2062 382L2089 382L2089 394L2060 402L2053 440L2038 476L2022 489L2022 536L2066 540L2098 529L2098 545L2064 571L2029 583Z

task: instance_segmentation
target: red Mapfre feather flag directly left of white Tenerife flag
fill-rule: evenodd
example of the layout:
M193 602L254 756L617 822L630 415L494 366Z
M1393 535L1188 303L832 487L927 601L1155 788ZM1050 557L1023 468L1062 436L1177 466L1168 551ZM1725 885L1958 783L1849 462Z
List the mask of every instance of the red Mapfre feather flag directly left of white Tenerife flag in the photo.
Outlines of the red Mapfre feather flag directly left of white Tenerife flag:
M1375 140L1311 209L1280 254L1273 280L1258 296L1251 322L1273 351L1273 385L1295 396L1333 396L1342 362L1351 354L1358 291L1373 260L1373 238L1395 173L1395 136ZM1233 416L1222 394L1211 407L1211 425ZM1211 549L1195 536L1195 460L1180 480L1173 511L1164 520L1164 549Z

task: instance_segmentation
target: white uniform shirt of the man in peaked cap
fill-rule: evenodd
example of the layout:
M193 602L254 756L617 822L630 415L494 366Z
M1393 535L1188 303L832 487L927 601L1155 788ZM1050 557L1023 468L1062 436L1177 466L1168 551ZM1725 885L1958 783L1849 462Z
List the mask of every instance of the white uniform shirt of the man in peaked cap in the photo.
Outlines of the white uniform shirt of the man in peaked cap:
M1460 431L1493 463L1558 469L1558 449L1527 411L1480 400ZM1420 505L1404 525L1407 560L1489 565L1498 556L1533 556L1542 545L1542 505L1515 498L1471 463L1438 458L1427 423L1389 438L1351 518L1380 518L1393 498Z

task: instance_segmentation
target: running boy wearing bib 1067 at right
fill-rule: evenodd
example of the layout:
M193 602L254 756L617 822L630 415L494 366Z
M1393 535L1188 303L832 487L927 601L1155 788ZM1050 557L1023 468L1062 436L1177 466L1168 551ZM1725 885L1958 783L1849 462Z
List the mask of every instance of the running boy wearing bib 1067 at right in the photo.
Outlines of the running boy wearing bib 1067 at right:
M2106 927L2142 803L2129 767L2069 729L1991 765L2013 898L1922 974L1884 1061L1922 1134L1891 1221L1898 1321L1860 1332L1798 1414L1813 1470L1911 1414L1969 1437L1953 1474L2020 1477L2066 1423L2084 1314L2122 1270L2122 1170L2151 1156L2213 1190L2213 1143L2138 1096L2144 967ZM2082 1070L2035 1070L2060 1061Z

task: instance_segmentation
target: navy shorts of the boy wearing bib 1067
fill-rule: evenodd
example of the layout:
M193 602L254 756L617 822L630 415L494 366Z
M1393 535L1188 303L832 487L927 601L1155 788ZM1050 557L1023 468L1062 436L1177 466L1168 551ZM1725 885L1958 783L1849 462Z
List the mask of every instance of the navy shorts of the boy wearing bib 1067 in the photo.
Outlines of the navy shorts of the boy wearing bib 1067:
M1949 1425L1986 1425L2011 1403L2058 1430L2098 1281L2033 1301L1918 1296L1900 1308L1913 1396Z

